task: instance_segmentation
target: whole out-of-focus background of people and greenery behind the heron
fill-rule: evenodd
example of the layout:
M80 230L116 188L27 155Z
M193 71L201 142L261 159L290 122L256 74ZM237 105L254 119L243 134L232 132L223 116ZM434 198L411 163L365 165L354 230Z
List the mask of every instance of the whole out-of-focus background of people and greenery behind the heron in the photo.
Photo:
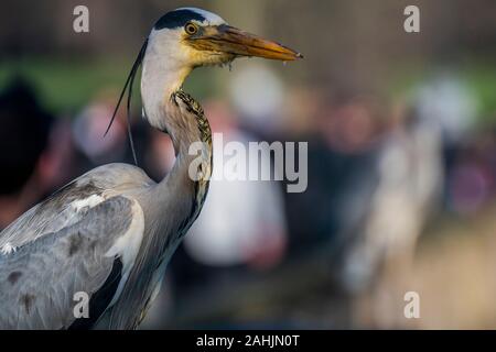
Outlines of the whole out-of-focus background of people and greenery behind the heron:
M0 229L132 163L123 109L103 133L153 23L184 6L305 55L200 69L185 90L225 142L309 142L309 187L214 180L142 328L496 328L493 0L2 1ZM134 108L139 165L160 179L172 144Z

